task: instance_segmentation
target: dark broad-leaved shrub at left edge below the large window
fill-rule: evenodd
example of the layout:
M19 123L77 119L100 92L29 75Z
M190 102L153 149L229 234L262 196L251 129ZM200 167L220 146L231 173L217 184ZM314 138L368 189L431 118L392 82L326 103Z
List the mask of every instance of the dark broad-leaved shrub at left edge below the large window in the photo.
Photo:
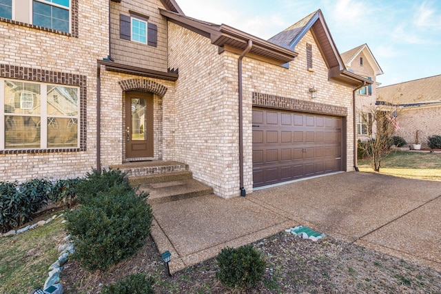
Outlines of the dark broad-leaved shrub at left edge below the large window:
M0 230L8 231L32 220L32 215L48 202L51 187L44 179L21 184L0 182Z

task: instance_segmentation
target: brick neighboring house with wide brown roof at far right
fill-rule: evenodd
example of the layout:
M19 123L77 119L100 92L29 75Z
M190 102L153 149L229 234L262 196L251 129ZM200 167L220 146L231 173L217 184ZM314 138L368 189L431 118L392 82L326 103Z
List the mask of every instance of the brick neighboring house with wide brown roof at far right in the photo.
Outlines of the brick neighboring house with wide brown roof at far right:
M427 138L441 135L441 75L420 78L377 89L377 103L397 109L401 136L411 145L427 148Z

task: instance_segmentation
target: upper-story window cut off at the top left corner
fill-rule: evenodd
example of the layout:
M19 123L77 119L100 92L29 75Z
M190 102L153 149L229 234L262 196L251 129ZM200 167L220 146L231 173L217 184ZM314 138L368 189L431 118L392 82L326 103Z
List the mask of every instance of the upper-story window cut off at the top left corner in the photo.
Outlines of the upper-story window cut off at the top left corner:
M71 32L72 5L77 0L0 0L0 17L19 24ZM75 10L76 11L76 10Z

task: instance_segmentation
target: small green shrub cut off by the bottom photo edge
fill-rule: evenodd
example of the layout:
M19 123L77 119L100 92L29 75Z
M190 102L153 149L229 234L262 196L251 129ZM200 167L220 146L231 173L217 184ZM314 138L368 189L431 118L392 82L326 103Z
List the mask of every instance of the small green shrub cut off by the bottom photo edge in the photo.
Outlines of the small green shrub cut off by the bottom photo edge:
M101 294L154 294L153 277L145 277L143 273L133 273L115 284L103 287Z

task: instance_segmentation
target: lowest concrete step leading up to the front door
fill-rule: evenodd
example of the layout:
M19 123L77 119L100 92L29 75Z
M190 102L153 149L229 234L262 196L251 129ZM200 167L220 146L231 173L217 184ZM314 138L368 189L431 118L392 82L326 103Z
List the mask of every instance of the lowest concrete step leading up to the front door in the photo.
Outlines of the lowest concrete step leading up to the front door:
M171 202L213 193L212 187L193 179L154 182L141 185L139 190L150 194L147 200L150 204Z

